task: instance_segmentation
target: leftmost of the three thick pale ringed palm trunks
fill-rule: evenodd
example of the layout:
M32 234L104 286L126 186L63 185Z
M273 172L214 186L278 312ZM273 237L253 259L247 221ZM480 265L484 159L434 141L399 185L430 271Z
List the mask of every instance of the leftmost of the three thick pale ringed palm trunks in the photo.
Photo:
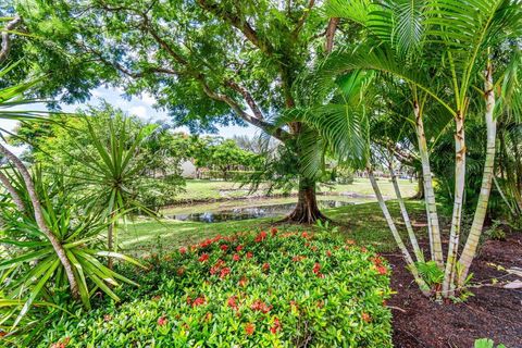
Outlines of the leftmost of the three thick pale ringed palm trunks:
M426 135L424 134L424 122L422 120L422 113L417 101L413 103L413 112L415 115L415 130L419 140L419 153L421 156L422 176L424 182L430 251L432 253L432 260L434 260L437 265L443 269L443 245L440 241L440 227L438 225L437 206L435 203L435 190L433 189L430 156L427 152Z

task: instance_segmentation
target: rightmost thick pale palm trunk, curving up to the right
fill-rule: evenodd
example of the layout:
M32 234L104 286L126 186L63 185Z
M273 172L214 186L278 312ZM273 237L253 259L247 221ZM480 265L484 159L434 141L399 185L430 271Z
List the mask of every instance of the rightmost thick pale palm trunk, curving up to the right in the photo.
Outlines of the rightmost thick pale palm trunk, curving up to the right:
M475 257L478 239L484 226L484 220L487 212L487 203L489 201L489 194L492 191L492 181L494 178L494 164L495 164L495 148L497 136L497 123L494 117L495 109L495 91L493 86L493 71L492 65L488 64L486 69L485 80L485 98L486 98L486 113L485 122L487 128L487 147L486 147L486 160L484 163L484 173L482 176L482 187L478 195L478 202L476 204L475 215L473 216L473 223L471 224L470 235L465 243L464 249L460 257L461 272L458 277L458 284L463 285L470 271L471 262Z

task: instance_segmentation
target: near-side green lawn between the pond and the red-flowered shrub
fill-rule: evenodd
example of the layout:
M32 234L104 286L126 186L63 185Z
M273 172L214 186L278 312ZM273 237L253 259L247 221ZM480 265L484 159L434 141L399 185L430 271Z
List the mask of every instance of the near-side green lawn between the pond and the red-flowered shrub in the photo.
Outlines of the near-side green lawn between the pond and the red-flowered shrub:
M398 204L391 201L388 202L388 207L406 238ZM413 225L420 225L420 231L423 231L425 227L419 222L424 222L424 203L422 201L408 201L407 207ZM339 232L347 238L355 239L362 245L373 246L380 252L396 249L395 241L376 202L328 209L325 210L325 213L338 225ZM285 229L315 228L314 226L277 224L278 220L279 217L201 223L139 219L129 223L126 232L120 232L119 240L125 252L137 256L172 250L217 234L227 235L236 232L259 231L273 225Z

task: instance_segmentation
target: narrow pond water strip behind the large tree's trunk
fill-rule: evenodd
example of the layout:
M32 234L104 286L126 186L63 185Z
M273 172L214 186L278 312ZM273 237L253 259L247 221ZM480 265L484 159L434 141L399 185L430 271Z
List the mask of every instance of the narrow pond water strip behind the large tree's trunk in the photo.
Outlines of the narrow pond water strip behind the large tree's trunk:
M339 200L319 200L318 204L321 209L339 208L349 204L356 204L355 201L339 201ZM178 221L196 221L196 222L223 222L237 221L258 217L277 217L283 216L293 211L296 207L295 202L290 203L274 203L263 204L258 207L237 207L227 209L209 209L199 212L165 212L165 217Z

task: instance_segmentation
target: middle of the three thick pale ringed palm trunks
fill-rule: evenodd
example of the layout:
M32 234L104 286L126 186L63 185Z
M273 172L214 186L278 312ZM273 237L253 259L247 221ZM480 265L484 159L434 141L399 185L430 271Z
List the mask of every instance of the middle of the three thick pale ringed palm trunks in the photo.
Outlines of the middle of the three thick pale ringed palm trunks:
M455 196L453 214L451 217L451 228L449 232L448 257L444 272L443 296L453 295L455 272L457 265L457 253L459 249L460 228L462 221L462 201L464 196L465 181L465 138L464 138L464 116L462 111L458 111L455 116Z

